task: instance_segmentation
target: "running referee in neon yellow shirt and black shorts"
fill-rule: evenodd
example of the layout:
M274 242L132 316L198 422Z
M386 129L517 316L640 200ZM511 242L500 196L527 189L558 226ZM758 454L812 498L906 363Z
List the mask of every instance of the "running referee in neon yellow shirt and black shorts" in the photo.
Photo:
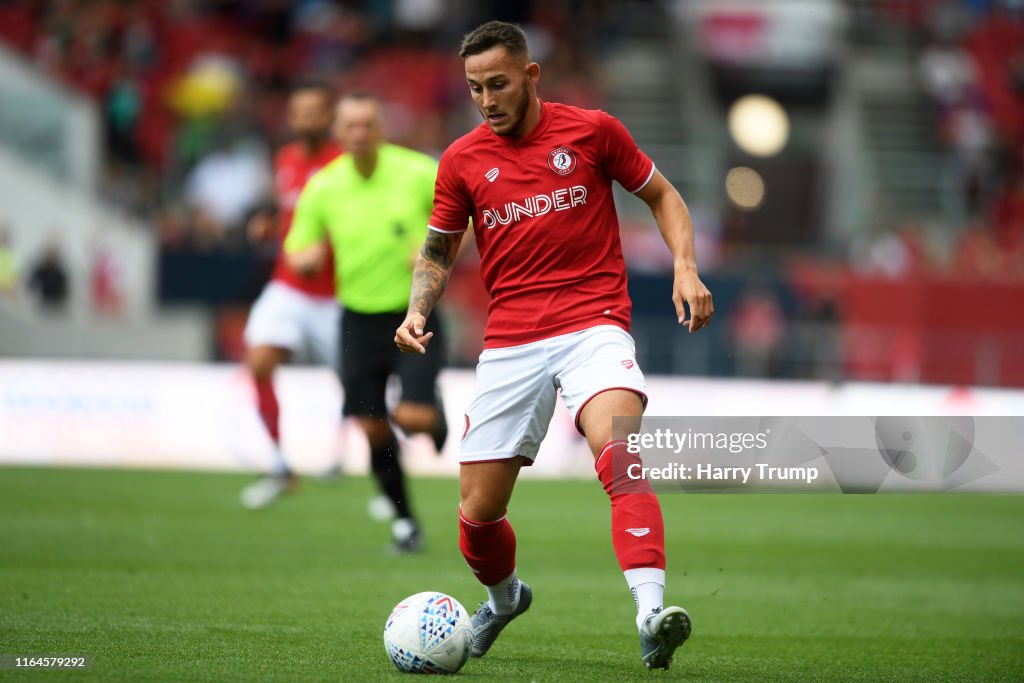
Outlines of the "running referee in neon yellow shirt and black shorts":
M318 270L328 253L324 238L330 239L338 299L344 307L343 413L354 416L366 431L371 469L394 506L392 549L416 552L422 547L422 535L406 492L398 443L388 424L385 389L389 376L401 379L401 400L392 419L406 432L430 433L440 452L447 426L435 383L443 347L431 349L425 362L411 362L415 359L391 343L404 315L416 252L427 231L437 162L384 141L381 103L373 94L342 97L335 126L345 154L303 189L285 251L293 267ZM438 333L435 318L424 324Z

